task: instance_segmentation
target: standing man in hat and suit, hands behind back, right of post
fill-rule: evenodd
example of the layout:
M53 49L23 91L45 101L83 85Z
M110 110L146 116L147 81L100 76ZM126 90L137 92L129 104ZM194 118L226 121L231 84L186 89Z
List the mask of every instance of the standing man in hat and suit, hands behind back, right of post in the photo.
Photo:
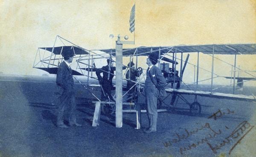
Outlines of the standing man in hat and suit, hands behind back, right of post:
M157 131L157 98L159 90L166 84L161 70L155 66L158 62L158 52L151 52L147 58L147 77L145 80L145 96L149 127L144 132L152 133Z

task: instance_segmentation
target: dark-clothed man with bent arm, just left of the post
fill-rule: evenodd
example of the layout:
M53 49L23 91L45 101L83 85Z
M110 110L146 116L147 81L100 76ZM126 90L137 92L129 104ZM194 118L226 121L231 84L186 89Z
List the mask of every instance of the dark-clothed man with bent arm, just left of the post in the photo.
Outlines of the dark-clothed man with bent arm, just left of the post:
M113 87L112 79L114 77L114 68L112 58L107 59L108 65L103 66L100 69L96 69L96 76L99 79L99 84L102 87L102 100L110 101L111 99L114 100L113 96L111 96L111 90L115 90ZM103 77L101 76L103 73Z

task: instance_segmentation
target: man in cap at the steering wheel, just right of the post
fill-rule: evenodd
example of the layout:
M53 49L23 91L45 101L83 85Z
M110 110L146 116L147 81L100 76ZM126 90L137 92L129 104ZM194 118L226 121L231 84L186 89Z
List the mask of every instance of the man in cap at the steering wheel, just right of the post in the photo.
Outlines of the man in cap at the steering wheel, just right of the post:
M142 74L142 71L138 71L135 69L134 62L128 63L127 67L130 67L130 69L127 71L125 78L127 79L127 86L126 89L128 90L128 97L131 97L131 99L128 99L127 102L135 102L138 98L136 91L136 77L139 77Z

